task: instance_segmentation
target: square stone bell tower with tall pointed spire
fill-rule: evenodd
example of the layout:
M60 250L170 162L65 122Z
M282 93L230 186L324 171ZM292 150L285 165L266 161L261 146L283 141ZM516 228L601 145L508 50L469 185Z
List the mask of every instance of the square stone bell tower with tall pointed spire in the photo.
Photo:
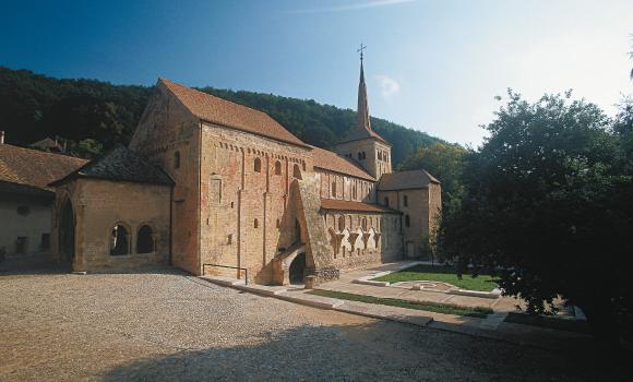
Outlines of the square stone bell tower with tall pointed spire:
M362 67L365 48L367 47L361 44L360 49L358 49L360 52L360 81L356 124L336 144L336 153L356 160L367 172L379 180L383 174L392 172L391 143L371 129L367 84Z

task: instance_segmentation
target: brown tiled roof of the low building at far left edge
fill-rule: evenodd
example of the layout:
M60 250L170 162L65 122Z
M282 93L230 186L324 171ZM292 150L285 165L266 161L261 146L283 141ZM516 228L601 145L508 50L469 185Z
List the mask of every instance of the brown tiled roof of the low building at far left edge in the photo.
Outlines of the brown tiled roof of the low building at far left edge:
M67 176L86 162L72 156L0 144L0 181L20 186L4 184L2 189L5 191L20 192L32 187L50 192L52 189L48 184L51 181Z

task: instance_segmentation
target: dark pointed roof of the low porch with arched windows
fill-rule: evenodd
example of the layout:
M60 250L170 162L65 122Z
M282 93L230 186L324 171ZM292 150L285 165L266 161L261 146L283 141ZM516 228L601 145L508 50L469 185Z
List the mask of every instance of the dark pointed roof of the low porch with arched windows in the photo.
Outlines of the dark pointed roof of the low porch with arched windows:
M160 168L146 163L122 145L117 145L101 157L91 160L85 166L51 184L62 183L75 178L120 180L166 186L174 184L174 180Z

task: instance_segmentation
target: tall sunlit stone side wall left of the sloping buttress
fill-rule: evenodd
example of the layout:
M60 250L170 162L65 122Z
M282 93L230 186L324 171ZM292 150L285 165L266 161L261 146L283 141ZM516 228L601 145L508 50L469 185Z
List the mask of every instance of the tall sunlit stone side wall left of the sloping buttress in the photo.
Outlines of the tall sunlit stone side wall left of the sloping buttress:
M201 263L246 267L268 284L272 259L298 240L289 189L313 171L309 148L212 123L203 124L202 142ZM205 272L243 277L218 266Z

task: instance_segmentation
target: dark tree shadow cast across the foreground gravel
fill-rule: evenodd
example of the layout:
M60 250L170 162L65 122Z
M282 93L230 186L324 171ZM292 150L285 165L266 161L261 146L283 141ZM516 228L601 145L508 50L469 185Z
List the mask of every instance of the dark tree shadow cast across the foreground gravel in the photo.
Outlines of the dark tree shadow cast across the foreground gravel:
M140 359L103 377L105 381L628 379L623 368L599 365L580 353L546 351L382 321L300 326L258 339L251 346Z

